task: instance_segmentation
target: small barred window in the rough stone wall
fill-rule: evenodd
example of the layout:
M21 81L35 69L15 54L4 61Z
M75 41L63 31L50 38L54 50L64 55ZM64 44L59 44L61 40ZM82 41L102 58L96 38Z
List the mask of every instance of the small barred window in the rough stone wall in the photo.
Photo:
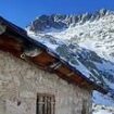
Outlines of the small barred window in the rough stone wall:
M37 114L54 114L55 98L51 94L37 94Z

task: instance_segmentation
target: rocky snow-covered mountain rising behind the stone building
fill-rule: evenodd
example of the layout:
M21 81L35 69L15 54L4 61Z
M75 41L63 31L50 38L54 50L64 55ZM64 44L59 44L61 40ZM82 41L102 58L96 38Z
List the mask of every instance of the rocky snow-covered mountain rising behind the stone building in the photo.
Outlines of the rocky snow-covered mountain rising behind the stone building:
M113 11L103 9L93 14L41 15L26 29L30 37L48 46L89 79L109 89L110 97L94 91L94 103L102 101L104 105L114 106Z

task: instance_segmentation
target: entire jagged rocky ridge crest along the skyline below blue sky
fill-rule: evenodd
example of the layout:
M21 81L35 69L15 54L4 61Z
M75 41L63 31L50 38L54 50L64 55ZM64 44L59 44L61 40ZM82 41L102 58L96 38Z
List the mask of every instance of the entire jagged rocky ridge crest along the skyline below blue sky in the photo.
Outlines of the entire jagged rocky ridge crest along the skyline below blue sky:
M101 10L94 14L83 14L83 15L62 15L62 14L52 14L52 15L41 15L37 17L30 25L30 30L33 31L43 31L45 29L55 28L63 29L68 28L71 25L75 26L77 23L85 23L87 21L98 20L111 12L106 10Z

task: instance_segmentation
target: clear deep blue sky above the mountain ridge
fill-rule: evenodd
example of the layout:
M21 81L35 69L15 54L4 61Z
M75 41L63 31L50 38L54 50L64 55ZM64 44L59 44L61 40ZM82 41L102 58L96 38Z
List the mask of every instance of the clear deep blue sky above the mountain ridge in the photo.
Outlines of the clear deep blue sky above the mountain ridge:
M22 27L41 14L80 14L102 8L114 10L114 0L0 0L0 15Z

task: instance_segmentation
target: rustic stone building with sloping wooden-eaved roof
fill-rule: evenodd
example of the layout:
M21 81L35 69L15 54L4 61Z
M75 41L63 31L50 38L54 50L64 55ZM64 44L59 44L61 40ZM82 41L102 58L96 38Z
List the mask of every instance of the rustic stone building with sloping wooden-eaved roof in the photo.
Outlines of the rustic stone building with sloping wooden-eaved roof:
M106 93L0 17L0 114L89 114L92 90Z

